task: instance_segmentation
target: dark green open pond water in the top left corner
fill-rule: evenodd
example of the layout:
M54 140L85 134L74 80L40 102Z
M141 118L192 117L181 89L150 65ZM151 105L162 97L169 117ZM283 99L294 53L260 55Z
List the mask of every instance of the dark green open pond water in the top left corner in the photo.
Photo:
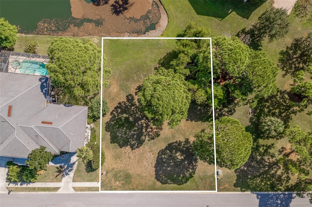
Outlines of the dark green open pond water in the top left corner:
M71 18L71 5L69 0L0 0L0 17L31 33L42 19Z

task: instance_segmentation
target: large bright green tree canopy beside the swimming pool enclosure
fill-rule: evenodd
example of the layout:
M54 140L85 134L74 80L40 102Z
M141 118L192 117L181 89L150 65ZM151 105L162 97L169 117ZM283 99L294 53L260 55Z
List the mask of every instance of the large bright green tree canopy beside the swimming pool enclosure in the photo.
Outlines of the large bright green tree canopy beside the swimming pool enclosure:
M48 48L48 55L50 63L46 68L54 86L85 101L88 96L99 93L101 50L91 40L55 38ZM105 61L104 58L103 64ZM103 78L110 74L109 68L103 68Z

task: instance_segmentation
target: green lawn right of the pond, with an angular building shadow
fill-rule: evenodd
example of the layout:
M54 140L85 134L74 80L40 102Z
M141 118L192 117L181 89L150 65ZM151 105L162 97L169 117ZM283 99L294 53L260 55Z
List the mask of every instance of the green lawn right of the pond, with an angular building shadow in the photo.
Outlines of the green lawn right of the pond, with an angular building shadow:
M255 22L271 2L258 6L251 1L161 0L169 23L161 36L175 37L191 22L207 29L212 36L236 34Z

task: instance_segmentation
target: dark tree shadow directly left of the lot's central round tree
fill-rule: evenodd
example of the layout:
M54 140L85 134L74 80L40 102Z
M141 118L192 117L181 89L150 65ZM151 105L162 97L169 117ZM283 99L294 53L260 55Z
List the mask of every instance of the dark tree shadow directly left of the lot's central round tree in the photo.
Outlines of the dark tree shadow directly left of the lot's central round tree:
M139 148L146 139L153 140L158 137L162 130L150 124L140 112L132 94L128 94L125 101L119 102L110 115L105 130L110 132L110 143L117 143L120 148Z

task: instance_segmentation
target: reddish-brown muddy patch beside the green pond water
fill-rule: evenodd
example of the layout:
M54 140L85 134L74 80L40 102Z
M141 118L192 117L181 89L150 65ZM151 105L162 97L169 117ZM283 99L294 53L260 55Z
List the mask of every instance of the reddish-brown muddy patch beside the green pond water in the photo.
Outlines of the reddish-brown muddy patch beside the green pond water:
M168 24L159 0L70 0L70 19L43 19L36 35L53 36L159 36Z

